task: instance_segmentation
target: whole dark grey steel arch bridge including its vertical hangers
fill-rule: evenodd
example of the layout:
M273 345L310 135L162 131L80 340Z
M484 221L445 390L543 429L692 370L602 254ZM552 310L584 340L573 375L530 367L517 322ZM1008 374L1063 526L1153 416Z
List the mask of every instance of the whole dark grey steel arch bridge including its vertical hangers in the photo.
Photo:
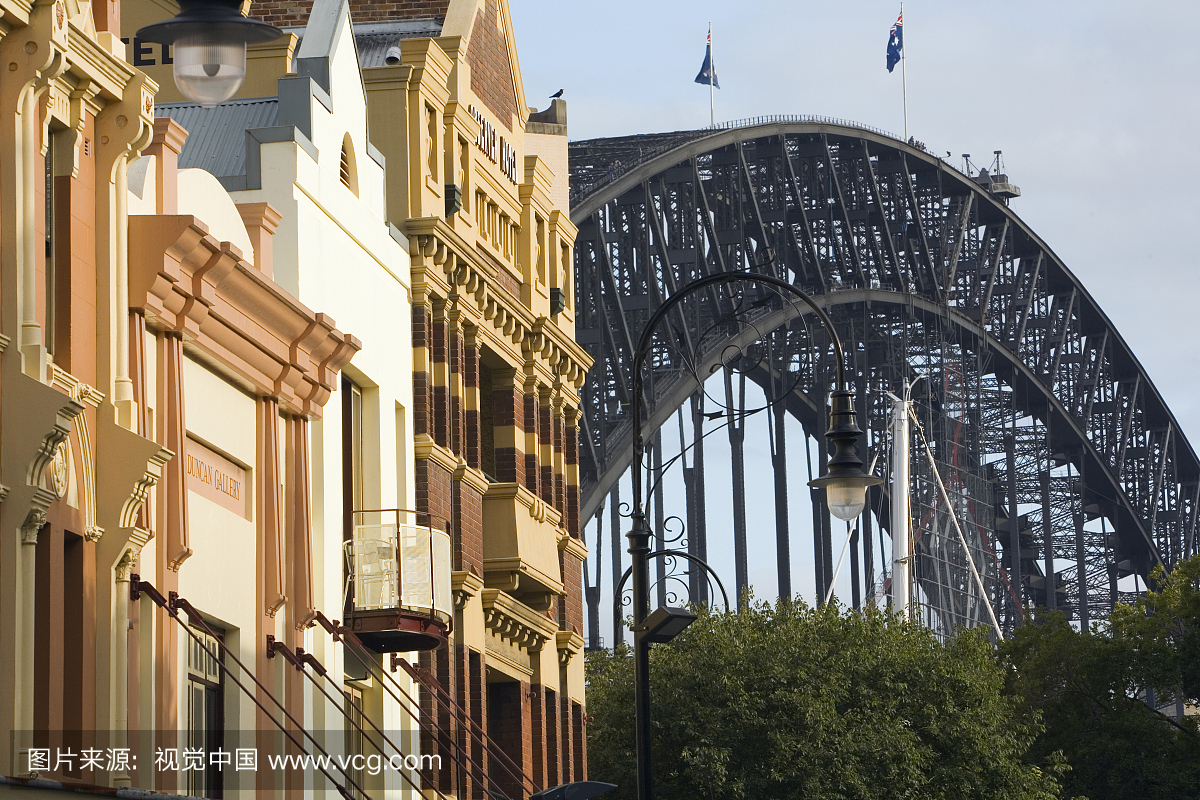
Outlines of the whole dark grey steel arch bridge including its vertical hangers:
M925 377L914 390L922 435L1003 626L1034 603L1087 625L1128 599L1128 576L1144 579L1156 565L1170 569L1195 553L1195 452L1109 318L1008 207L1014 192L1004 176L966 175L919 145L815 118L576 142L570 167L580 229L576 332L595 359L580 447L581 519L595 528L586 573L592 646L623 572L619 479L632 452L632 343L665 297L726 270L787 279L833 318L872 453L888 446L887 392ZM805 441L788 457L784 417L821 441L823 463L829 342L802 309L754 287L696 296L667 329L646 380L647 429L659 433L642 468L652 483L659 479L664 432L676 427L665 423L678 416L686 534L677 531L673 546L692 558L660 564L660 600L676 581L707 601L707 576L679 570L704 559L710 545L704 443L718 427L732 461L736 585L746 584L744 426L756 410L746 405L748 381L772 422L778 587L791 595L787 471L810 451ZM725 383L716 410L715 373ZM913 455L924 452L914 441ZM986 615L929 461L913 461L913 575L925 619L949 632ZM872 524L890 534L887 483L872 492L874 513L853 540L856 606L859 553L863 594L887 584L871 571ZM835 537L822 504L812 507L823 596ZM622 637L617 621L613 632Z

